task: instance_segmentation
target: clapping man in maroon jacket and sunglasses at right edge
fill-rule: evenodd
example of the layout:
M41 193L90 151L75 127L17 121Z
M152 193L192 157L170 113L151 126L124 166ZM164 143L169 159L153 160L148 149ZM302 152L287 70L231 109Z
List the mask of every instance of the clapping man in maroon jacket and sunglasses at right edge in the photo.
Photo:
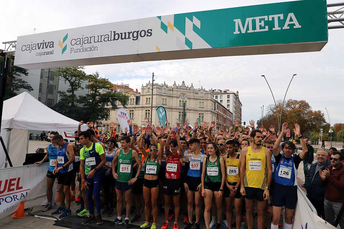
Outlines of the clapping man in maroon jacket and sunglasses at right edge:
M331 225L334 224L336 217L344 203L344 155L334 151L331 155L331 166L319 171L320 183L326 186L324 210L325 220ZM344 229L344 215L340 216L339 226Z

